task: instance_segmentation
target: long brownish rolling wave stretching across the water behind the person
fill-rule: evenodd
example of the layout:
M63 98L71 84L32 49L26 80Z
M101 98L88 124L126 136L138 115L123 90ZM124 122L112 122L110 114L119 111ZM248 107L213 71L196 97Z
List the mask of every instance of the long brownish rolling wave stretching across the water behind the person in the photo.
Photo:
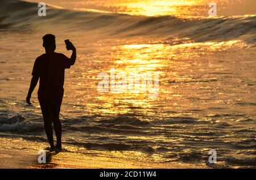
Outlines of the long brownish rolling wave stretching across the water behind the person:
M108 36L157 35L167 42L175 37L196 42L242 40L253 45L256 42L255 15L218 18L148 17L48 7L47 16L40 17L36 3L2 0L0 5L0 29L60 27L88 32L102 30Z

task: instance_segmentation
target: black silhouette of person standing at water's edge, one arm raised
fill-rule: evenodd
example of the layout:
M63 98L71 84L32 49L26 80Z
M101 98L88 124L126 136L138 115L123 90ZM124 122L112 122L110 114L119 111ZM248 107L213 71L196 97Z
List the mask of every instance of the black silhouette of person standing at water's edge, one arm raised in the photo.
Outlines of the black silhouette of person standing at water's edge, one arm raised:
M26 101L28 104L31 104L31 94L40 78L38 100L43 114L44 130L46 131L50 144L50 150L54 151L55 149L61 150L61 123L59 113L64 93L64 74L65 68L70 68L71 65L75 64L76 48L70 43L69 49L73 51L71 58L61 53L55 53L55 36L51 34L43 37L43 47L46 53L40 55L35 60ZM56 146L53 143L52 122L57 138Z

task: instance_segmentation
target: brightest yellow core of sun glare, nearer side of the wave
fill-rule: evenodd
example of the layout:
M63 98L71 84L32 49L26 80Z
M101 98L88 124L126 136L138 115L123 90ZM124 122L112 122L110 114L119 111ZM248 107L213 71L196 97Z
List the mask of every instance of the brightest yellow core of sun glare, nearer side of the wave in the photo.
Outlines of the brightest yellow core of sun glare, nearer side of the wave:
M115 52L115 60L111 68L114 68L115 74L123 72L127 77L130 73L135 74L137 78L139 78L140 84L142 83L143 77L138 76L145 73L151 73L152 75L157 73L160 81L160 76L163 75L162 69L164 66L167 66L165 58L168 53L168 51L166 51L167 48L168 46L163 44L132 44L115 46L113 48L113 51ZM110 75L110 69L107 69L106 72ZM154 87L154 76L152 76L151 80L152 87ZM116 80L115 83L117 82L118 81ZM157 100L158 97L151 98L151 93L148 91L145 92L141 88L134 90L135 91L129 91L127 89L127 91L122 93L110 91L108 93L100 93L97 96L97 99L105 102L102 104L104 109L101 109L101 112L123 114L129 113L133 110L141 111L150 109L154 106L154 103L152 102ZM147 112L147 114L151 113Z

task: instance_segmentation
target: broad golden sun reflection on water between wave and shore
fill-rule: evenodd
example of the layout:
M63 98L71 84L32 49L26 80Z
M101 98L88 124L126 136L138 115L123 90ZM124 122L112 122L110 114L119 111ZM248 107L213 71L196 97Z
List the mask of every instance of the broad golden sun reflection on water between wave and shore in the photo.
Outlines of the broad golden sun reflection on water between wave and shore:
M222 64L216 64L216 61L205 61L204 58L202 61L202 57L208 58L209 55L214 55L214 52L218 50L225 50L239 43L242 42L191 42L177 45L126 44L113 46L107 53L108 57L102 61L104 66L90 70L94 75L92 77L93 81L92 79L87 81L89 83L88 87L90 87L88 92L85 92L81 85L77 85L74 82L77 88L81 89L76 91L76 99L82 100L82 103L86 103L84 104L86 107L90 107L92 112L97 112L98 114L136 113L154 116L156 113L168 112L168 110L175 109L179 111L195 108L191 97L195 96L197 98L199 96L203 98L199 91L204 90L199 90L200 88L205 89L214 85L217 86L217 83L220 83L214 74L209 74L209 71L225 70L225 66L222 66ZM214 56L211 57L214 58ZM146 72L151 74L157 72L159 75L158 96L152 97L150 96L153 95L152 92L145 92L141 88L130 91L125 85L124 88L127 91L112 92L110 88L110 85L113 85L110 80L112 69L114 69L115 75L123 72L126 77L129 76L130 72L137 75ZM97 84L102 80L97 78L100 72L108 74L109 87L107 92L99 92L97 89ZM114 84L117 87L122 87L123 84L119 84L119 80L116 79ZM154 77L152 80L154 81ZM135 82L133 82L133 85L135 85ZM154 87L154 83L152 83L152 87ZM207 93L204 98L207 99L208 91L207 89L205 91ZM86 93L90 93L90 96L86 95Z

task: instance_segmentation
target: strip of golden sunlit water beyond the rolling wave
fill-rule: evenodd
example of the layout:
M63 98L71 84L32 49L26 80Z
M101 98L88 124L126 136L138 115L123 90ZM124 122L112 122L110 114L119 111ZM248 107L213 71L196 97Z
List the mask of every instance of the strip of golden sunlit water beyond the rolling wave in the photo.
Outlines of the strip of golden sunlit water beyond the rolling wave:
M38 2L38 0L26 0ZM217 3L218 16L255 14L254 0L44 0L54 8L139 16L209 16L209 3Z

